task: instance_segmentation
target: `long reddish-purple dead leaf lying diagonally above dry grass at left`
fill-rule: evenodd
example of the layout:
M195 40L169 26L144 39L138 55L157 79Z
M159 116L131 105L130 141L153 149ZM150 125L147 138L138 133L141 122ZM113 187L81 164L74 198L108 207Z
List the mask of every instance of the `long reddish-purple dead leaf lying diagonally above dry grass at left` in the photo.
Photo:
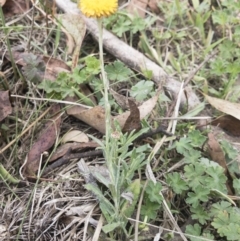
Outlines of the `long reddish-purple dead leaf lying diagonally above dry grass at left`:
M52 105L50 114L54 115L60 111L60 105ZM27 163L24 166L26 176L34 176L39 168L41 154L53 146L60 130L61 115L57 114L49 120L38 139L32 145Z

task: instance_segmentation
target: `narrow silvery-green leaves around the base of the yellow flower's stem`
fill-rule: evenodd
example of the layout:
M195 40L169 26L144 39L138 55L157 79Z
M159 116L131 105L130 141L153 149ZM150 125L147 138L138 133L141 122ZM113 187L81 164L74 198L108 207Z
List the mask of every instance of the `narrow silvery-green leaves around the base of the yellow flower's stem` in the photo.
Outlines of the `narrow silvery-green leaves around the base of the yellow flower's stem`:
M119 130L115 131L109 149L111 161L106 162L109 178L97 175L98 181L107 188L106 192L96 185L85 185L99 200L101 211L107 221L103 231L115 239L123 237L122 235L126 237L130 235L126 229L127 218L133 214L141 190L140 180L135 178L135 173L146 164L145 152L149 151L150 147L148 145L134 147L131 151L129 148L145 131L146 129L142 129L138 133L131 132L129 135L122 134ZM99 143L105 156L105 144L95 138L94 140ZM114 230L117 232L114 233Z

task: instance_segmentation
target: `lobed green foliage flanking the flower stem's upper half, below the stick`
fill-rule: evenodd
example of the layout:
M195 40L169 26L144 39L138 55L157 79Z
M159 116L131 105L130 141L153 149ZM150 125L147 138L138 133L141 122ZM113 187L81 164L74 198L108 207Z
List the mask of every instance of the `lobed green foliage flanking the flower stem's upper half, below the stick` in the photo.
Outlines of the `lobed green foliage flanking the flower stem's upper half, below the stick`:
M84 58L83 61L84 65L82 68L75 68L72 72L61 72L55 81L46 79L38 85L38 88L43 89L48 98L64 99L67 96L77 96L79 97L79 100L92 106L92 101L81 93L79 85L90 84L93 87L94 94L98 100L102 98L103 95L101 93L103 91L103 83L98 77L100 73L100 62L93 56L88 56ZM38 62L36 62L36 64L37 63ZM29 69L31 69L31 72L28 72L29 74L35 73L35 65L33 68L29 67ZM120 61L115 61L106 65L105 71L109 80L113 83L125 81L133 74L133 72Z

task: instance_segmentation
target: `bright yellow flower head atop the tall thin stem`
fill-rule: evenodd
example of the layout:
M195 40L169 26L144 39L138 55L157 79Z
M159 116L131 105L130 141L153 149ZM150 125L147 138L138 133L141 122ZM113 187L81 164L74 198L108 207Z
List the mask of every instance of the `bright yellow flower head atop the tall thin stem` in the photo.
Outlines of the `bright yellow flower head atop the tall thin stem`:
M80 0L78 7L87 17L107 17L117 11L117 0Z

